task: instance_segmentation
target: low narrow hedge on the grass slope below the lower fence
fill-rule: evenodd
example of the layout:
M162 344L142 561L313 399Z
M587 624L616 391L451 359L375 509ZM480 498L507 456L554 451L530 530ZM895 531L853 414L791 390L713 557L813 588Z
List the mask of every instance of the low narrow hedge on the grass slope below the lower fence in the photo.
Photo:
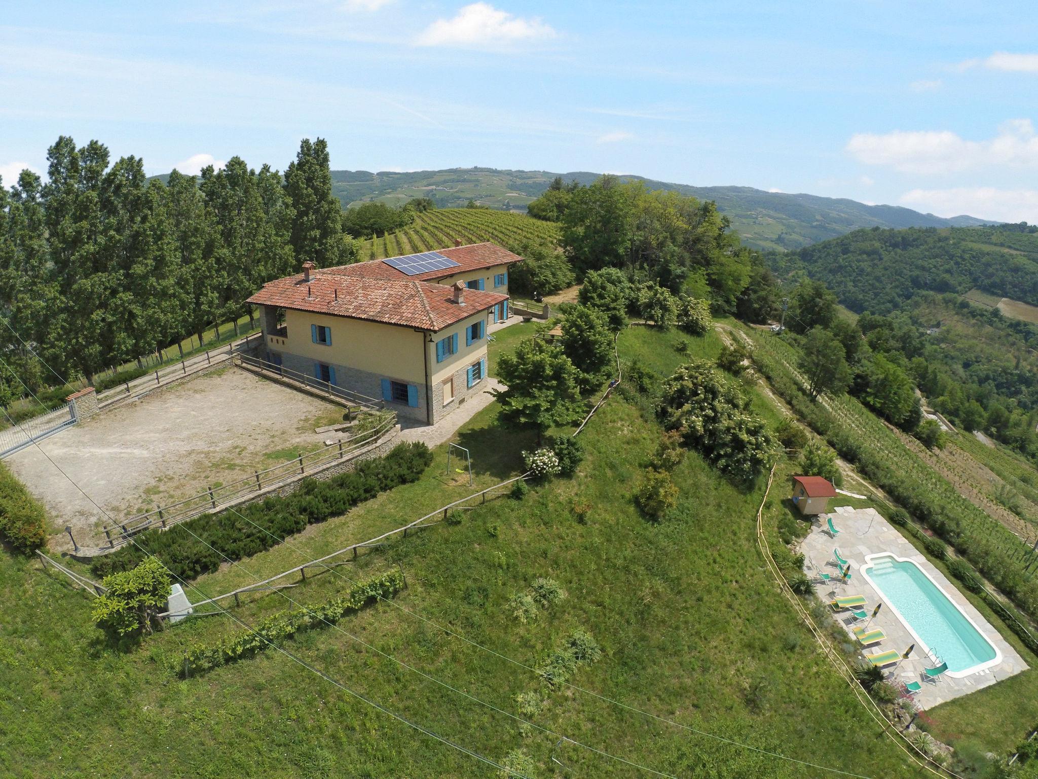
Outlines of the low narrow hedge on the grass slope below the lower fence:
M392 597L404 589L404 574L399 570L367 580L346 595L334 597L322 606L291 612L278 612L257 622L251 630L243 630L213 644L197 644L176 661L173 669L180 676L192 676L243 657L251 657L271 644L280 644L297 633L334 624L347 614L370 606L378 598Z

